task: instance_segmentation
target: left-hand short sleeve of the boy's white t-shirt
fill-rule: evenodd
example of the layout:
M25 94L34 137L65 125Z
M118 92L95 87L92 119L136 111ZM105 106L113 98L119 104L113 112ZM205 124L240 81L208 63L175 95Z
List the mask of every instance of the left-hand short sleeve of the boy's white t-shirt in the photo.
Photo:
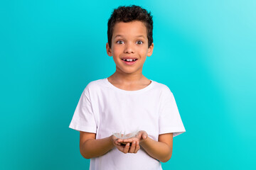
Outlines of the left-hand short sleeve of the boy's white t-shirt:
M95 123L95 115L92 111L92 104L87 88L82 91L69 128L83 132L96 133L97 125Z

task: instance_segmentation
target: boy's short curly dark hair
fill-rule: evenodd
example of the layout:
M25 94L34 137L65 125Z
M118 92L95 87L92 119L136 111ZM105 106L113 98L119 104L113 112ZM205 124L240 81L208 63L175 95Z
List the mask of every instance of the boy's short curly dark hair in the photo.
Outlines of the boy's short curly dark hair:
M131 21L142 21L146 26L146 34L149 40L148 46L153 42L153 16L151 12L141 6L119 6L112 12L110 19L107 22L107 40L111 48L111 41L113 35L113 28L115 23L124 22L128 23Z

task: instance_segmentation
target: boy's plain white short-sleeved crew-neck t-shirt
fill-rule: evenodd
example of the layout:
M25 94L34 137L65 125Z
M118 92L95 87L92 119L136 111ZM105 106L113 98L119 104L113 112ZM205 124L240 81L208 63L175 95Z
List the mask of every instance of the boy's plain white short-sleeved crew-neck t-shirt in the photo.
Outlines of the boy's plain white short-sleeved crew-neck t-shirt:
M137 91L117 88L105 79L91 81L85 87L69 128L96 133L96 139L110 137L114 132L145 130L158 141L164 133L173 136L185 132L176 101L168 86L151 80ZM139 169L161 170L161 163L141 147L137 154L113 148L101 157L90 160L90 170Z

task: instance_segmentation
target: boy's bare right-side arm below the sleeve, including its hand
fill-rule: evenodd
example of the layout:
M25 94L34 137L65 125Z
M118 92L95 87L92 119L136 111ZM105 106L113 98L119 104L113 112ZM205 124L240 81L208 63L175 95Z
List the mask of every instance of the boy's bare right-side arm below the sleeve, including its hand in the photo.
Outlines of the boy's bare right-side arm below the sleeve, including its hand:
M168 162L171 159L173 134L166 133L159 135L159 141L152 140L145 131L140 131L137 137L132 137L123 142L139 141L139 145L154 159L161 162Z

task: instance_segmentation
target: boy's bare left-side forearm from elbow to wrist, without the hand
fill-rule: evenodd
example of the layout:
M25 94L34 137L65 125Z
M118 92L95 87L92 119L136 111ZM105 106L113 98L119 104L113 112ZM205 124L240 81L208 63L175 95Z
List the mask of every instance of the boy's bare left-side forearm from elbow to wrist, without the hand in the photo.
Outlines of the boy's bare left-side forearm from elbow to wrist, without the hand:
M91 159L106 154L113 147L114 145L112 144L111 136L100 140L89 139L80 144L80 153L82 154L82 157Z

